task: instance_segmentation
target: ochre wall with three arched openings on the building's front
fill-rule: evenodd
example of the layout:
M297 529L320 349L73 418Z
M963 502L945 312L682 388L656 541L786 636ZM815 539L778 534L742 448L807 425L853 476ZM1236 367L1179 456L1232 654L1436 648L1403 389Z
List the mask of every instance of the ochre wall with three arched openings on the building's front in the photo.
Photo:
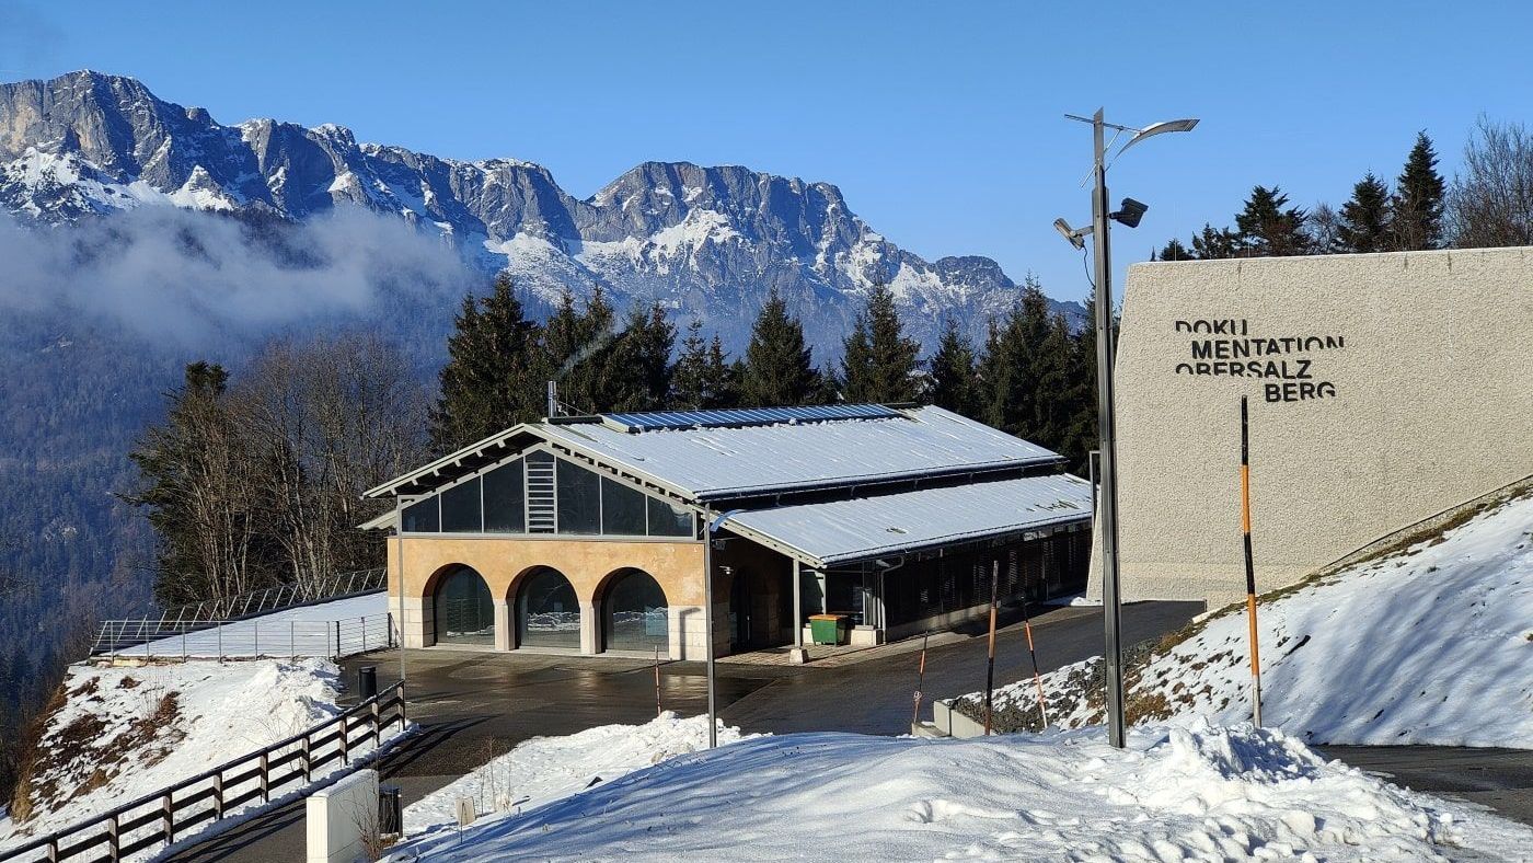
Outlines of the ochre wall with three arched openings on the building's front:
M400 613L403 573L402 628L408 647L431 644L435 632L431 599L437 578L455 566L469 566L484 578L495 599L497 647L512 648L510 602L515 601L515 592L527 573L538 567L552 567L569 578L579 599L581 653L596 653L601 648L599 601L607 578L621 569L633 567L655 576L665 592L665 601L670 604L670 658L699 659L707 653L702 625L702 543L406 535L389 538L388 558L389 610L396 615ZM716 596L714 602L717 605L727 601ZM724 612L728 612L727 604ZM724 638L727 647L727 628Z

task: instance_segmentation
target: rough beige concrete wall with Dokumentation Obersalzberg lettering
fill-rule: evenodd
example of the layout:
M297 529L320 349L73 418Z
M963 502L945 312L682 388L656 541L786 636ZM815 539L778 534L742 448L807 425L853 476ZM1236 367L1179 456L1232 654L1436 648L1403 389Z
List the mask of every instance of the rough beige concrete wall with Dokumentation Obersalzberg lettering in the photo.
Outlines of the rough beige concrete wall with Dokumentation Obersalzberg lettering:
M1256 339L1298 342L1234 356ZM1127 598L1243 595L1242 395L1259 590L1533 474L1533 248L1133 265L1118 356Z

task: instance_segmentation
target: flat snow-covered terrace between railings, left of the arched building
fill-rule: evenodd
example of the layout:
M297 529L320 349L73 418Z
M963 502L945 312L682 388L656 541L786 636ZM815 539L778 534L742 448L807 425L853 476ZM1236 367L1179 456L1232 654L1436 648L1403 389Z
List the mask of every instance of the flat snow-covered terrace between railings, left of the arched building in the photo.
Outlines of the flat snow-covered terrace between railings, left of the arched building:
M339 624L339 628L337 628ZM388 595L317 602L176 635L117 656L350 656L388 645Z

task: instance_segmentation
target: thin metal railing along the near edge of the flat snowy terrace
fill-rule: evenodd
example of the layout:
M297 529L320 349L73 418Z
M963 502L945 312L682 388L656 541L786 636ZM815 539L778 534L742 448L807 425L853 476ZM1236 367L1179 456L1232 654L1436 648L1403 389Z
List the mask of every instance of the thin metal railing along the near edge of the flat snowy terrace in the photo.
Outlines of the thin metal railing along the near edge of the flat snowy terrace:
M340 659L388 647L394 647L394 615L385 612L331 621L265 616L178 625L158 621L104 621L90 656L181 661L258 656Z

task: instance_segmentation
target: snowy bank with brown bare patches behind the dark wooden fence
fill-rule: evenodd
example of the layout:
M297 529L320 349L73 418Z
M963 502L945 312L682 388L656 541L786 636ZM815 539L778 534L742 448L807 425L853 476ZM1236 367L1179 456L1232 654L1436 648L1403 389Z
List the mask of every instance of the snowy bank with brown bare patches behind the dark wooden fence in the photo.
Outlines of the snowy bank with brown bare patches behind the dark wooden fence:
M339 713L337 670L322 659L136 668L75 665L63 691L67 696L46 719L43 756L28 780L32 811L20 823L0 820L0 851L175 785ZM357 747L354 753L368 748ZM273 791L276 796L287 788Z

